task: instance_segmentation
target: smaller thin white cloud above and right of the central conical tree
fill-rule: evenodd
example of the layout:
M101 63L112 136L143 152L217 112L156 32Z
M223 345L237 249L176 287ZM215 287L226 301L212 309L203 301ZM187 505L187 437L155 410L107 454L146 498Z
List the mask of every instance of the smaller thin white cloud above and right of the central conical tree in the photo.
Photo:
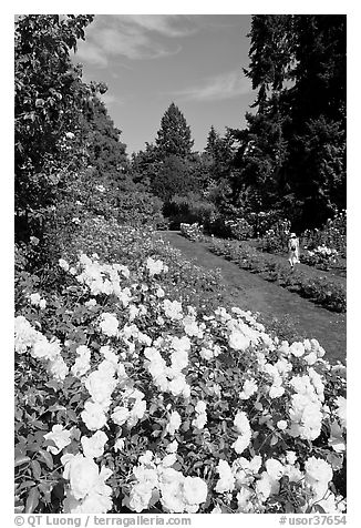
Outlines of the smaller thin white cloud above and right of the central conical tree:
M243 75L240 69L237 69L208 78L197 85L185 88L174 94L189 101L216 101L233 99L251 91L249 79Z

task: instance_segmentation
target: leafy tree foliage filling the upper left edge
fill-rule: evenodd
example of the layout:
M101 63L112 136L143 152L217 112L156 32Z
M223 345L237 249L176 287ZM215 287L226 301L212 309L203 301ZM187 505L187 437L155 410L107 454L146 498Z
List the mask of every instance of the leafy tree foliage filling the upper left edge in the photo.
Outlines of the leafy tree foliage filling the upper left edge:
M41 235L64 186L66 171L83 162L79 118L92 89L70 53L92 16L29 14L16 22L16 233ZM95 88L94 88L95 89Z

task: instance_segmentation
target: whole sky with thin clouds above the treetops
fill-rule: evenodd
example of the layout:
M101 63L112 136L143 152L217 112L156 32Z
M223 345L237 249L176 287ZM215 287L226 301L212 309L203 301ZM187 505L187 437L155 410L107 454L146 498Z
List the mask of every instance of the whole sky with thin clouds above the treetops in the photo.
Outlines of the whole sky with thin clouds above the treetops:
M202 151L213 124L245 125L255 100L248 65L250 16L102 14L86 29L75 61L85 81L104 81L103 97L127 153L153 142L172 101Z

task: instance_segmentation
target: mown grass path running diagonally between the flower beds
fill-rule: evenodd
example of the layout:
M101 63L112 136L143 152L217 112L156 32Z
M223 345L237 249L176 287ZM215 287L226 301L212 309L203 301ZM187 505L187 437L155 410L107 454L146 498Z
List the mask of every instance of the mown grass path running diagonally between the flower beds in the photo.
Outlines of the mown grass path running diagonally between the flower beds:
M162 232L161 236L195 264L210 270L219 268L227 288L227 299L235 306L259 312L266 324L275 318L280 322L286 318L300 335L318 339L329 361L344 362L345 314L329 312L275 283L241 270L210 253L204 244L190 242L177 232Z

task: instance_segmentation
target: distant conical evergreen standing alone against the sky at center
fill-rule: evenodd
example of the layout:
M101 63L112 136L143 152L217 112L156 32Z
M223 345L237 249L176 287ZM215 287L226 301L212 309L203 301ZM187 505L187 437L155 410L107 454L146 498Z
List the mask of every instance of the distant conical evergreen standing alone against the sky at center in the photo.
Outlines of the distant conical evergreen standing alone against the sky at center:
M194 145L190 136L190 128L185 116L174 103L166 110L161 121L161 129L155 140L159 160L169 155L187 158Z

